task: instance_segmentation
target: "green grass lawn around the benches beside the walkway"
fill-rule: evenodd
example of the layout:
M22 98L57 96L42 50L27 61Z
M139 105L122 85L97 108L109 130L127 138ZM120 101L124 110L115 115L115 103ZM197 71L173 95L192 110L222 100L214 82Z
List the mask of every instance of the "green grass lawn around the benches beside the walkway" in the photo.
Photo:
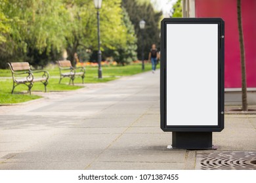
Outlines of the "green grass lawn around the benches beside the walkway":
M85 85L86 83L96 83L96 82L108 82L110 80L115 80L120 76L129 76L142 73L141 65L127 65L123 66L109 66L102 67L102 79L98 79L98 67L87 67L85 73ZM150 71L151 65L145 65L145 71ZM47 67L44 70L49 72L49 84L47 85L47 91L68 91L77 90L83 88L83 86L77 86L76 84L81 83L81 77L77 77L74 80L74 86L68 85L69 78L63 78L61 84L58 84L59 80L59 70L58 67ZM37 74L38 75L38 74ZM37 76L35 75L35 76ZM12 90L12 78L1 78L1 77L11 77L11 71L9 69L0 69L0 104L7 103L21 103L25 101L30 101L33 99L39 99L41 96L33 95L35 91L44 91L44 86L41 82L33 84L32 95L29 95L26 91L28 87L24 84L16 86L14 94L11 94Z

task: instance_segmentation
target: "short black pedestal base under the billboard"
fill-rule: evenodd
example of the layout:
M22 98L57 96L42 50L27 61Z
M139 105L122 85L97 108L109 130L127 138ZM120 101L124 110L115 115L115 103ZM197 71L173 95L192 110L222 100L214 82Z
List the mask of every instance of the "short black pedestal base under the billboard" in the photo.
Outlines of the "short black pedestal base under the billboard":
M189 131L173 131L172 148L190 150L217 149L215 146L213 146L212 132Z

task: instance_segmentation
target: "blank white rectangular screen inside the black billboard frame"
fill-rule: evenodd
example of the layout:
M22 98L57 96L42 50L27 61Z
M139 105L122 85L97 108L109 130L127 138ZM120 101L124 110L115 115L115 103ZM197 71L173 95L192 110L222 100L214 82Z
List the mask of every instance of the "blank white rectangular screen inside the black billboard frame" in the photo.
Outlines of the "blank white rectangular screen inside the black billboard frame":
M167 24L167 125L218 124L218 24Z

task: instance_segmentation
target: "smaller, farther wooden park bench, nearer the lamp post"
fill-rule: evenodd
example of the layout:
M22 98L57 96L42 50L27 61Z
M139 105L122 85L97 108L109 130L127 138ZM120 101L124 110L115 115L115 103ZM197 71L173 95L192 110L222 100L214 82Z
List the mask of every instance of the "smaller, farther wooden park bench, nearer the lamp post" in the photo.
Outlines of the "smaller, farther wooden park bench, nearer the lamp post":
M58 61L58 68L60 69L60 81L64 77L69 77L70 82L72 81L74 85L75 76L81 76L82 80L85 78L85 67L72 67L69 60ZM60 83L60 81L58 83Z

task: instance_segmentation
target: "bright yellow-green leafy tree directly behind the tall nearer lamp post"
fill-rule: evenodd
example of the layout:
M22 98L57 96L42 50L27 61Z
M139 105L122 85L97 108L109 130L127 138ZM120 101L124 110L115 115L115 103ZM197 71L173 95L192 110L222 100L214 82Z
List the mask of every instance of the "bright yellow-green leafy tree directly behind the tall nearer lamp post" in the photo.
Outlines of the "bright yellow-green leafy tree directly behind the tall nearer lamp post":
M74 61L77 49L97 48L96 10L91 0L67 0L66 7L70 13L70 33L68 42L68 58ZM100 41L102 50L124 47L127 42L126 27L122 24L121 0L103 1L100 8Z

